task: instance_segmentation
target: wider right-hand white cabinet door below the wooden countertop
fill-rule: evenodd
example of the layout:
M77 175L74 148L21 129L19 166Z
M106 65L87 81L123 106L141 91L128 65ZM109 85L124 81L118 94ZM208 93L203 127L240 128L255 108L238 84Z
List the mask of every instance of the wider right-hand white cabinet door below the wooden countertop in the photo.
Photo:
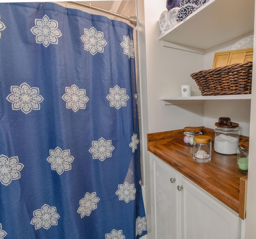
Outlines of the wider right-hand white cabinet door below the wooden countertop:
M236 213L186 177L180 177L180 184L182 239L240 238L241 221Z

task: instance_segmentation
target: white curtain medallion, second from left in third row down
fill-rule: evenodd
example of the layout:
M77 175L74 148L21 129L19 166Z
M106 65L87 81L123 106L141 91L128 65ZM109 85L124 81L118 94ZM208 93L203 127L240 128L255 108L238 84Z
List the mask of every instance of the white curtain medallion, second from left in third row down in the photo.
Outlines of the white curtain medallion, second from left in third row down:
M46 159L51 164L51 169L56 170L58 175L61 175L64 171L71 170L71 163L74 157L70 155L70 150L63 150L60 147L56 147L54 150L49 150L50 156Z

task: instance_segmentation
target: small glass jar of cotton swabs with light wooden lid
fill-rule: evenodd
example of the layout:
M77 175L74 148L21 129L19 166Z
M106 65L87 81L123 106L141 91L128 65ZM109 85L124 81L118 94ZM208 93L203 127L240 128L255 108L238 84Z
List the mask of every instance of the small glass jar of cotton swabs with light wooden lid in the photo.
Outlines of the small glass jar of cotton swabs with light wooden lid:
M200 163L211 161L212 138L207 135L194 136L193 159Z

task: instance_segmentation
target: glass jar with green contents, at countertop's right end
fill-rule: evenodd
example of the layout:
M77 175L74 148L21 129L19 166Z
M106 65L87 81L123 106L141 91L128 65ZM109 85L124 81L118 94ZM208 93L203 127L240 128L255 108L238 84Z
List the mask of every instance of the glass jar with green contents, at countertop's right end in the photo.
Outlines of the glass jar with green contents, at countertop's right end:
M239 142L240 147L237 149L236 168L244 174L248 174L248 160L249 160L249 140L242 140Z

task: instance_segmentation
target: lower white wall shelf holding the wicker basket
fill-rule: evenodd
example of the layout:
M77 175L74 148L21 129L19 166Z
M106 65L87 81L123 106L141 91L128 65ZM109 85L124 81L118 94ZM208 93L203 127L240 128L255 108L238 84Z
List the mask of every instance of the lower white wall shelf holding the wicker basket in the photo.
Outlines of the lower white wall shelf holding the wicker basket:
M250 100L251 94L227 96L160 97L164 105L202 104L206 100Z

